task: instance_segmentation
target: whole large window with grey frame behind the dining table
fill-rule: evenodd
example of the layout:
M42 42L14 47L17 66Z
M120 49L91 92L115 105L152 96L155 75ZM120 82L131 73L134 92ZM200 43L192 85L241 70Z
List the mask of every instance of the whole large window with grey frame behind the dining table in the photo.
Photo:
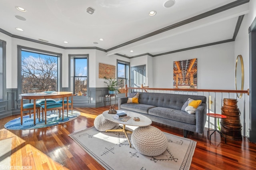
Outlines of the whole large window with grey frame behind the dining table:
M20 93L60 91L60 54L18 47Z

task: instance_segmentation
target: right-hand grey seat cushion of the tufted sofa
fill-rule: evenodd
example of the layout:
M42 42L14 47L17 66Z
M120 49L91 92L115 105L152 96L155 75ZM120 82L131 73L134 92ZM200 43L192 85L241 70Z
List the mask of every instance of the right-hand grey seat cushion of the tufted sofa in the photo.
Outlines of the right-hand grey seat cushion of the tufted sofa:
M166 119L171 119L174 121L189 123L189 124L196 124L196 115L188 114L184 111L170 109L165 107L154 107L148 111L149 115L154 115L157 117L163 117ZM172 126L172 125L170 125Z

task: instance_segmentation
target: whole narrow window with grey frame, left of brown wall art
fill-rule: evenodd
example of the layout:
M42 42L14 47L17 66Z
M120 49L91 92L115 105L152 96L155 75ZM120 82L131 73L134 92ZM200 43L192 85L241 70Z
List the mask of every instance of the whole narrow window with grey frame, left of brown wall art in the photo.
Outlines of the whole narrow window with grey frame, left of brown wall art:
M74 94L82 92L87 95L88 92L88 55L87 54L69 54L69 84L70 90Z

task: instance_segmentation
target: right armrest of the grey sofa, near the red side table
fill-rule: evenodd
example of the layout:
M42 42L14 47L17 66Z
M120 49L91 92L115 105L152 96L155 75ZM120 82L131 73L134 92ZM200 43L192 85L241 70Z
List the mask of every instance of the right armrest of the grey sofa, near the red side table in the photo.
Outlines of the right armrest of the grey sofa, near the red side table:
M206 124L206 103L202 103L196 109L196 132L202 133Z

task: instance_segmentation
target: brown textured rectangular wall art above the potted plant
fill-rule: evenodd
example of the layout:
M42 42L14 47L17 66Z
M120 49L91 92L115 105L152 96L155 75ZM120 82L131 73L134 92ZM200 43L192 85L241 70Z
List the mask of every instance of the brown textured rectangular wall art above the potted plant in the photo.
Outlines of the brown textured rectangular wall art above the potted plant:
M116 78L116 66L99 63L99 78L107 77L108 79Z

